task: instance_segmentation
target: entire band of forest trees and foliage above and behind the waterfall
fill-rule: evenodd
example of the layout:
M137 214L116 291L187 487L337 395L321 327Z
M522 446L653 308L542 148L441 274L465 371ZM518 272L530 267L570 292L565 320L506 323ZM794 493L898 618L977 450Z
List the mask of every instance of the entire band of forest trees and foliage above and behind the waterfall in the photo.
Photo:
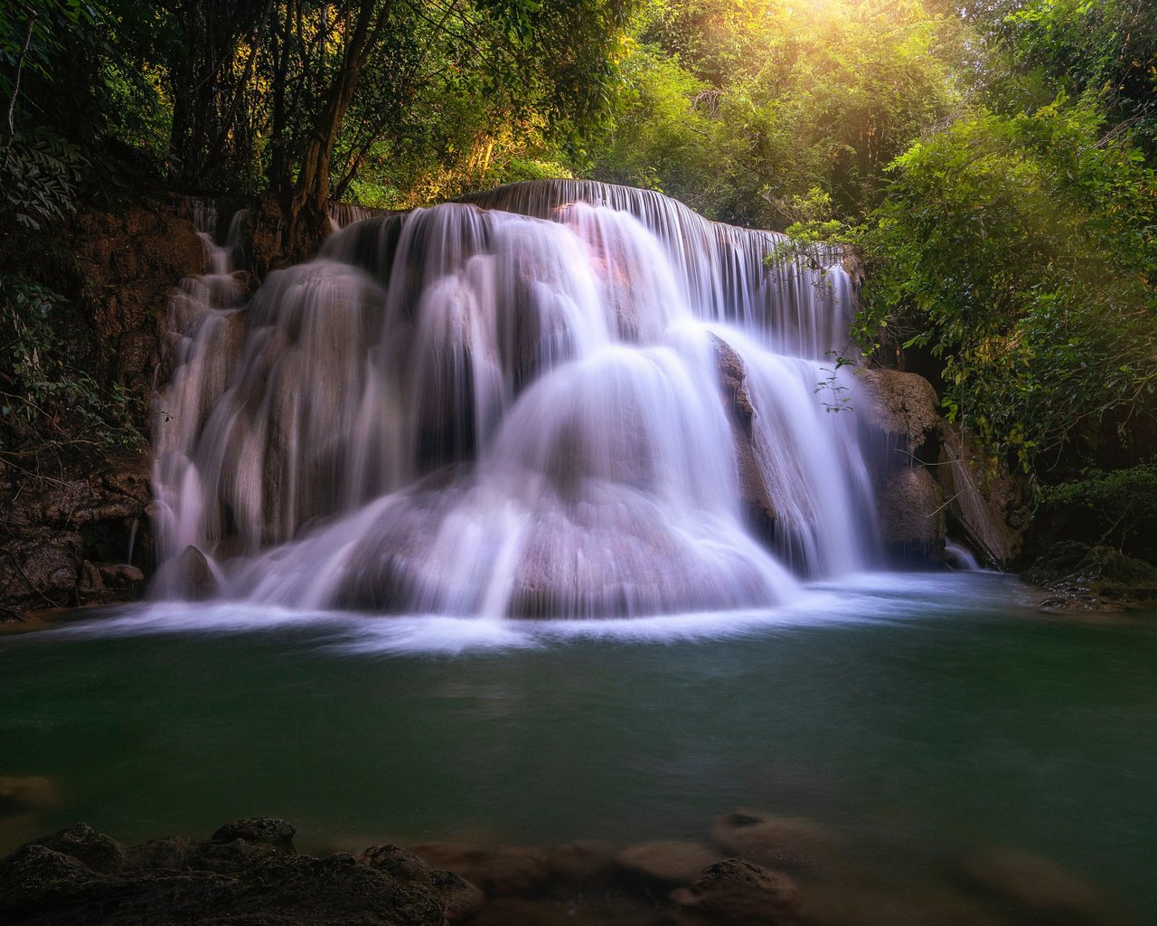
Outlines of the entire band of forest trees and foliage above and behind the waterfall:
M1008 462L1154 453L1149 0L16 0L0 97L9 233L152 185L270 198L296 259L329 199L647 186L856 249L861 348ZM39 358L57 296L0 286Z

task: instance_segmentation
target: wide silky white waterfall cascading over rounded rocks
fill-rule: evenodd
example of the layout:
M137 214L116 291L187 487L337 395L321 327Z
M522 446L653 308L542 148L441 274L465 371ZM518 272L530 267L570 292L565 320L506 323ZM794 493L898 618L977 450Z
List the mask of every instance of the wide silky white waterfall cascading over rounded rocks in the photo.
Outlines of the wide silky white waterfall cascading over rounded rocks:
M215 266L174 302L157 588L201 563L292 607L635 616L862 568L825 403L852 286L834 253L768 270L782 241L552 181L351 225L248 306Z

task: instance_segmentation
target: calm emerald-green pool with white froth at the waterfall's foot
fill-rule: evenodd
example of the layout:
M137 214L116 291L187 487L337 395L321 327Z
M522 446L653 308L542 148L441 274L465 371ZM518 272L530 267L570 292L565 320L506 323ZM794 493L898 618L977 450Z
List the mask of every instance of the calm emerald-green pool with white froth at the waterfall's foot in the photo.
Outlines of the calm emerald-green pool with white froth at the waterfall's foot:
M1157 613L1042 616L983 573L633 622L138 605L0 638L0 776L56 795L0 853L78 820L135 842L257 814L315 851L625 846L751 808L885 861L1034 853L1143 919L1155 668Z

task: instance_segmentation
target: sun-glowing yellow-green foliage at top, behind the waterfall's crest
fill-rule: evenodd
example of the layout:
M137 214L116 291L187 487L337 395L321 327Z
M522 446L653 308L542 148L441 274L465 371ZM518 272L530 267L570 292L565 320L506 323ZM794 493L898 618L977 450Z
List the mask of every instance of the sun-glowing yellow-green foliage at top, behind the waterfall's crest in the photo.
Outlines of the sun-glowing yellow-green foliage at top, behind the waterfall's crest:
M956 105L941 50L958 28L919 0L661 6L638 27L596 176L653 177L712 218L765 228L790 223L812 189L863 214L882 167Z

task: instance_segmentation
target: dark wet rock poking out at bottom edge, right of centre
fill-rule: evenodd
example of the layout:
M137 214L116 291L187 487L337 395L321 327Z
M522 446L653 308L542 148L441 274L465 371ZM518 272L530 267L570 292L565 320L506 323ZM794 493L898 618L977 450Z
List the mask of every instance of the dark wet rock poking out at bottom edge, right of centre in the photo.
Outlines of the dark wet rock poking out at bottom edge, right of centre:
M686 888L671 894L677 926L782 926L796 923L795 882L743 859L708 866Z

